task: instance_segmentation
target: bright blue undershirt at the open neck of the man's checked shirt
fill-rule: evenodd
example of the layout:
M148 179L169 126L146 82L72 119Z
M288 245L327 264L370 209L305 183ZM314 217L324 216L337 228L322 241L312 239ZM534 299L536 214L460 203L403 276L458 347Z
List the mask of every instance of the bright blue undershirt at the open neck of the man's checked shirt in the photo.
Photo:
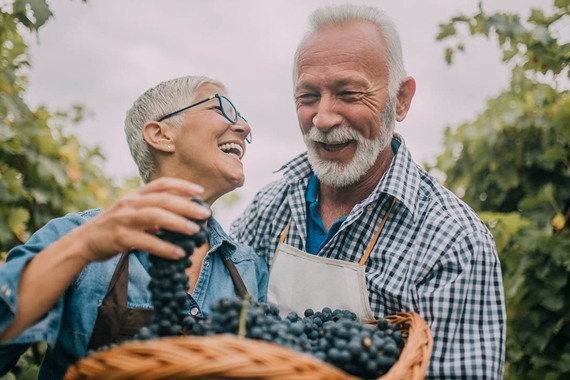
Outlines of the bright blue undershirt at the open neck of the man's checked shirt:
M398 153L400 142L393 138L391 147L394 154ZM307 246L305 249L307 253L312 255L319 253L321 248L337 233L342 222L346 219L345 216L334 222L327 233L321 219L321 214L319 214L319 202L317 200L317 196L319 194L320 187L319 179L313 173L309 179L307 193L305 195L305 201L307 204Z

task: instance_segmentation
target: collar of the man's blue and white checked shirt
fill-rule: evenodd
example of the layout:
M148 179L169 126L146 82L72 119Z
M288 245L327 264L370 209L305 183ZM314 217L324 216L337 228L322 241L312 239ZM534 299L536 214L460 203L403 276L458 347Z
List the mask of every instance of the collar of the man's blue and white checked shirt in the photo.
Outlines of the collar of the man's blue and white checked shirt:
M365 207L378 199L382 194L388 194L401 202L410 211L412 218L415 220L421 180L420 171L412 159L404 138L397 133L394 133L394 138L400 142L398 153L394 156L392 163L374 191L368 198L360 202L360 206ZM277 171L283 171L283 177L287 183L295 184L305 181L305 186L308 185L309 179L313 174L307 158L307 152L293 158Z

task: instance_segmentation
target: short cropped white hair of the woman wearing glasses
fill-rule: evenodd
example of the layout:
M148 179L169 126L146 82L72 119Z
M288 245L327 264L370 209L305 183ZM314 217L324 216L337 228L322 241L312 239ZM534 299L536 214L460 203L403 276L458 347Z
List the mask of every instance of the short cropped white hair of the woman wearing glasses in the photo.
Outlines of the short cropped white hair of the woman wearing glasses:
M224 92L226 91L222 83L208 77L185 76L175 78L159 83L145 91L127 111L125 119L127 143L144 183L150 181L150 176L156 169L156 161L151 147L143 139L143 126L149 121L157 121L164 115L196 102L196 90L206 83L214 84ZM180 125L183 115L184 112L180 112L164 122L175 126Z

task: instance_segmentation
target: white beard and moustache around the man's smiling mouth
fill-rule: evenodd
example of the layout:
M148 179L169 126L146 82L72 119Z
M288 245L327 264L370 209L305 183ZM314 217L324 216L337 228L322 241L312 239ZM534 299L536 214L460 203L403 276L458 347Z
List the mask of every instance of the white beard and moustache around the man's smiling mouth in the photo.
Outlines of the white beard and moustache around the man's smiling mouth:
M322 132L313 127L303 140L307 146L309 163L322 183L335 188L350 186L360 180L376 162L378 155L390 145L395 126L395 98L389 99L382 112L382 125L376 140L369 140L350 127L335 127ZM318 143L342 144L356 142L354 157L348 164L323 160L319 156Z

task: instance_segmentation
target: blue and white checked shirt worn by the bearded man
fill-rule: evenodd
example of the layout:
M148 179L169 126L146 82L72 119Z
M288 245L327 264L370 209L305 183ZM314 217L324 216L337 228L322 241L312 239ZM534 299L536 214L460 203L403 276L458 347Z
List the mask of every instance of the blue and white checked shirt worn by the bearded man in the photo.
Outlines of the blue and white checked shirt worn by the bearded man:
M376 316L415 311L434 339L427 378L501 379L506 314L493 237L475 212L412 160L402 144L375 190L358 203L319 256L356 262L397 199L366 262ZM271 264L279 237L304 250L306 153L263 188L230 234ZM326 286L326 284L323 284Z

